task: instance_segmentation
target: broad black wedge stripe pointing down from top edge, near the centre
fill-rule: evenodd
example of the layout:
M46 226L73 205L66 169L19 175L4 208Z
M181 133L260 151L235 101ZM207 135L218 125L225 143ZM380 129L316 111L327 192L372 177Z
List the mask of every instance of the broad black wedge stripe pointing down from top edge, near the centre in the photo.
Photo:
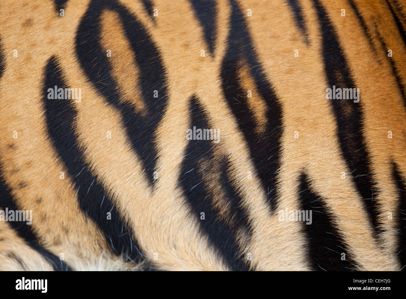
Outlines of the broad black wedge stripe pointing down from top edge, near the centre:
M217 9L214 0L190 0L195 14L199 18L200 24L204 28L204 36L211 53L214 53L214 43L216 39L216 17Z

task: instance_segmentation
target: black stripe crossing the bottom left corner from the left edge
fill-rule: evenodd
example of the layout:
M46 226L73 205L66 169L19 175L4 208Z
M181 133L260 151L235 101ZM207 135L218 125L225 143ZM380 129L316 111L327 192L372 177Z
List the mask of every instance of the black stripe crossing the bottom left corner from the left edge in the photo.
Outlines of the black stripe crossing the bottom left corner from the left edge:
M4 211L6 208L8 208L9 211L21 210L19 207L17 207L15 199L11 195L10 189L6 185L6 181L2 175L2 168L0 166L0 210ZM26 221L9 221L8 223L17 233L17 235L24 239L28 246L37 251L43 256L43 258L45 258L45 260L52 264L55 271L72 270L63 260L60 260L56 255L42 246L39 238L34 233L34 230L30 225L26 224ZM35 223L35 218L32 219L32 223Z

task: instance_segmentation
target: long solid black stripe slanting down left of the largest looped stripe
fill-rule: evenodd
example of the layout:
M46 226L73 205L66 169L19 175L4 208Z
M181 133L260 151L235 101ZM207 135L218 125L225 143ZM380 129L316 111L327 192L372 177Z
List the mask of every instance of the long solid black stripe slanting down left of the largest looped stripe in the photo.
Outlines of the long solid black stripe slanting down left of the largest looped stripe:
M77 111L67 99L48 99L48 88L68 88L64 82L58 61L52 57L45 69L43 103L48 133L65 164L65 172L75 182L77 199L82 211L100 227L106 243L117 255L128 255L134 262L143 260L138 242L134 239L132 229L125 223L116 205L104 190L102 183L91 174L90 166L84 162L84 153L79 148L74 130L74 118ZM107 213L111 213L111 220Z

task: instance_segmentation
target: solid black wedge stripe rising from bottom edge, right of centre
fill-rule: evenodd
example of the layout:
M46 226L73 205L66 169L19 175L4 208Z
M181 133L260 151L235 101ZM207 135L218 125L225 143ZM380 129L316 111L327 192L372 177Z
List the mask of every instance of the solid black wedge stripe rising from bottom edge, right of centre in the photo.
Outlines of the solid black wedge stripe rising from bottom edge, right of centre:
M302 210L312 211L311 224L303 222L312 270L354 270L354 261L348 255L346 245L333 221L333 214L329 212L322 197L311 190L310 180L305 173L300 176L298 195ZM341 260L344 257L342 253L345 253L345 260Z

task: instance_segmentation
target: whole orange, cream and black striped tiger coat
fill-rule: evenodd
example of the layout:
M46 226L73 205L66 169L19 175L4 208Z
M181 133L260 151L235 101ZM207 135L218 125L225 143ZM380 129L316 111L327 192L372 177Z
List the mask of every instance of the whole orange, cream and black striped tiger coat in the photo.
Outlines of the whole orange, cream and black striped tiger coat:
M397 0L0 2L0 210L33 212L0 221L0 268L404 270L405 15ZM311 224L281 219L298 210Z

